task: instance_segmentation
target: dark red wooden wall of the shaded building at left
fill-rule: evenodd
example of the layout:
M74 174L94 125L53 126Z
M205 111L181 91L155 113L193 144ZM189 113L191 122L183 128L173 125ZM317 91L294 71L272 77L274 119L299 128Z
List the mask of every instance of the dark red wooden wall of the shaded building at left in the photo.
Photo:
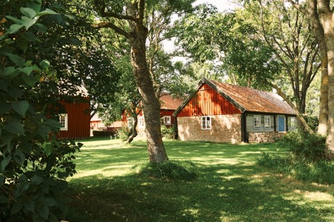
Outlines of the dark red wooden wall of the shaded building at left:
M61 102L67 112L67 130L61 130L58 138L88 138L90 136L89 101L86 103Z

